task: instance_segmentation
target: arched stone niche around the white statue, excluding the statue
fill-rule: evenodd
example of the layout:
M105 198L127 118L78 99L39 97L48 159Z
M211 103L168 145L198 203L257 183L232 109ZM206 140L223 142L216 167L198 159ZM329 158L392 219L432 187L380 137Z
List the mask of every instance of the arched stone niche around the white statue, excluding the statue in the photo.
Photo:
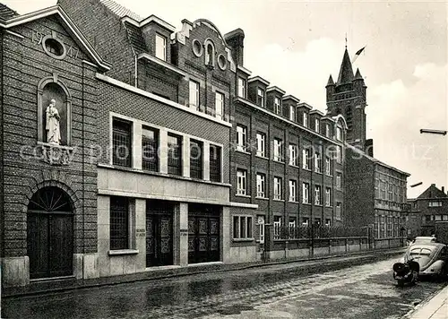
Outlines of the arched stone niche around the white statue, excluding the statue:
M48 142L46 110L51 99L56 101L55 108L60 116L59 145L70 146L72 143L72 96L65 83L54 74L40 80L38 84L38 142Z

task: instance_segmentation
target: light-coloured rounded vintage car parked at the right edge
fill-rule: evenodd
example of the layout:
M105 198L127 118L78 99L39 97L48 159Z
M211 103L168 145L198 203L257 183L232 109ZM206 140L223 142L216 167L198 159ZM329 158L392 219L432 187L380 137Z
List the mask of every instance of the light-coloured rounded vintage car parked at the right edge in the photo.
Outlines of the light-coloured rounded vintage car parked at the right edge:
M404 262L413 260L420 266L419 276L448 276L448 246L441 243L413 244L404 255Z

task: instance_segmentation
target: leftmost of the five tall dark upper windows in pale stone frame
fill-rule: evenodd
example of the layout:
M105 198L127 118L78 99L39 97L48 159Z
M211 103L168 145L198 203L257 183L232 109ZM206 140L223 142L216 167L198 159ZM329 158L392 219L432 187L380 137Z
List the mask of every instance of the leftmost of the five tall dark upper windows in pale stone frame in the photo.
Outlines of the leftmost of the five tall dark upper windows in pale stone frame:
M112 121L112 162L116 166L132 165L132 123L114 118Z

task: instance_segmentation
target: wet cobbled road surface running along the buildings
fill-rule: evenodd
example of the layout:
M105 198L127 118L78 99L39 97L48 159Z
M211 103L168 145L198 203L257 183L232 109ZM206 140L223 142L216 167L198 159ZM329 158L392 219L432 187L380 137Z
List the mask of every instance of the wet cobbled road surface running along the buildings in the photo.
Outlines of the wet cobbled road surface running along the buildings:
M2 301L2 318L400 318L444 287L396 287L400 258L301 275L293 265L141 281Z

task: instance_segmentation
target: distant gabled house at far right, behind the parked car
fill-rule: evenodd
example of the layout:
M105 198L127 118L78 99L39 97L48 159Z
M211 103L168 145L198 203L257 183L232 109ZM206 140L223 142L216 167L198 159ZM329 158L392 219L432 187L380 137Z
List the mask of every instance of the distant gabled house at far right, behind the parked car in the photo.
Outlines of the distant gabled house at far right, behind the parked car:
M408 200L406 229L409 237L436 235L436 223L448 222L448 194L444 186L430 185L417 198Z

